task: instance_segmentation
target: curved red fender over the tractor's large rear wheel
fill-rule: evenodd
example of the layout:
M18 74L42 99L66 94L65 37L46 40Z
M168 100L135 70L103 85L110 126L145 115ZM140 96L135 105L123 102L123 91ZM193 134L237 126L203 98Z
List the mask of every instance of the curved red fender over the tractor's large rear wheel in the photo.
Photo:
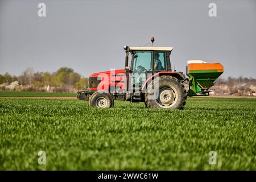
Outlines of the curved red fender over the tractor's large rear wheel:
M177 78L177 80L183 81L185 80L185 77L181 75L179 72L158 72L152 75L151 77L148 77L147 80L143 83L141 87L142 93L146 93L147 85L150 84L152 80L154 80L155 77L162 76L162 75L170 75L172 77Z

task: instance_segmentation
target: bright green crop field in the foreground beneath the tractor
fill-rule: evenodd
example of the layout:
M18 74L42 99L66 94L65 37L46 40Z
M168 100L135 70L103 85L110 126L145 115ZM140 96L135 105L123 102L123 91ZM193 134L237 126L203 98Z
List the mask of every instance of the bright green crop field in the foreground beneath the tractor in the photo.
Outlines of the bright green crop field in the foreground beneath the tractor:
M198 98L184 110L154 110L0 98L0 136L1 170L256 170L256 100ZM46 165L38 164L40 150Z

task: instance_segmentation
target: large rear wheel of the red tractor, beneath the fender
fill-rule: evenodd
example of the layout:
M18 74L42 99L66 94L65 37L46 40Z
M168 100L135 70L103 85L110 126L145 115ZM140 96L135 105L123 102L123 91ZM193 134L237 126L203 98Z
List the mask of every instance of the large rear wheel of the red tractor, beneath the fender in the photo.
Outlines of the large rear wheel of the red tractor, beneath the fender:
M164 75L155 78L148 85L145 101L149 108L183 109L187 101L187 93L184 85L177 78Z

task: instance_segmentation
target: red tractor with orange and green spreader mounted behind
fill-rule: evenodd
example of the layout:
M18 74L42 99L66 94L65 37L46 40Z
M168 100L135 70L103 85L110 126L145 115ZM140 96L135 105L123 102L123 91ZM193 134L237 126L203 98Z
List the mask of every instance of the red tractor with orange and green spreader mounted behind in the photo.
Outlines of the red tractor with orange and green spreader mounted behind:
M172 71L172 47L124 49L125 69L90 75L88 90L77 92L79 100L89 100L93 107L113 107L114 100L122 100L144 102L150 108L183 109L187 96L208 96L210 86L223 72L220 63L192 60L185 78L182 72ZM185 81L189 82L188 92Z

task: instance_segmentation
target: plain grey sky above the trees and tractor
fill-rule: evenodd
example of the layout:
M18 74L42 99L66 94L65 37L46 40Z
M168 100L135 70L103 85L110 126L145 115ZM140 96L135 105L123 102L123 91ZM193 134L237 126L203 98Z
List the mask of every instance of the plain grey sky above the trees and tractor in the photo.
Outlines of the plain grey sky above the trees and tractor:
M38 16L38 3L47 16ZM217 5L217 17L208 5ZM0 73L27 67L54 72L66 66L82 76L122 69L123 46L174 47L172 67L187 60L219 61L224 77L256 77L256 1L0 0Z

